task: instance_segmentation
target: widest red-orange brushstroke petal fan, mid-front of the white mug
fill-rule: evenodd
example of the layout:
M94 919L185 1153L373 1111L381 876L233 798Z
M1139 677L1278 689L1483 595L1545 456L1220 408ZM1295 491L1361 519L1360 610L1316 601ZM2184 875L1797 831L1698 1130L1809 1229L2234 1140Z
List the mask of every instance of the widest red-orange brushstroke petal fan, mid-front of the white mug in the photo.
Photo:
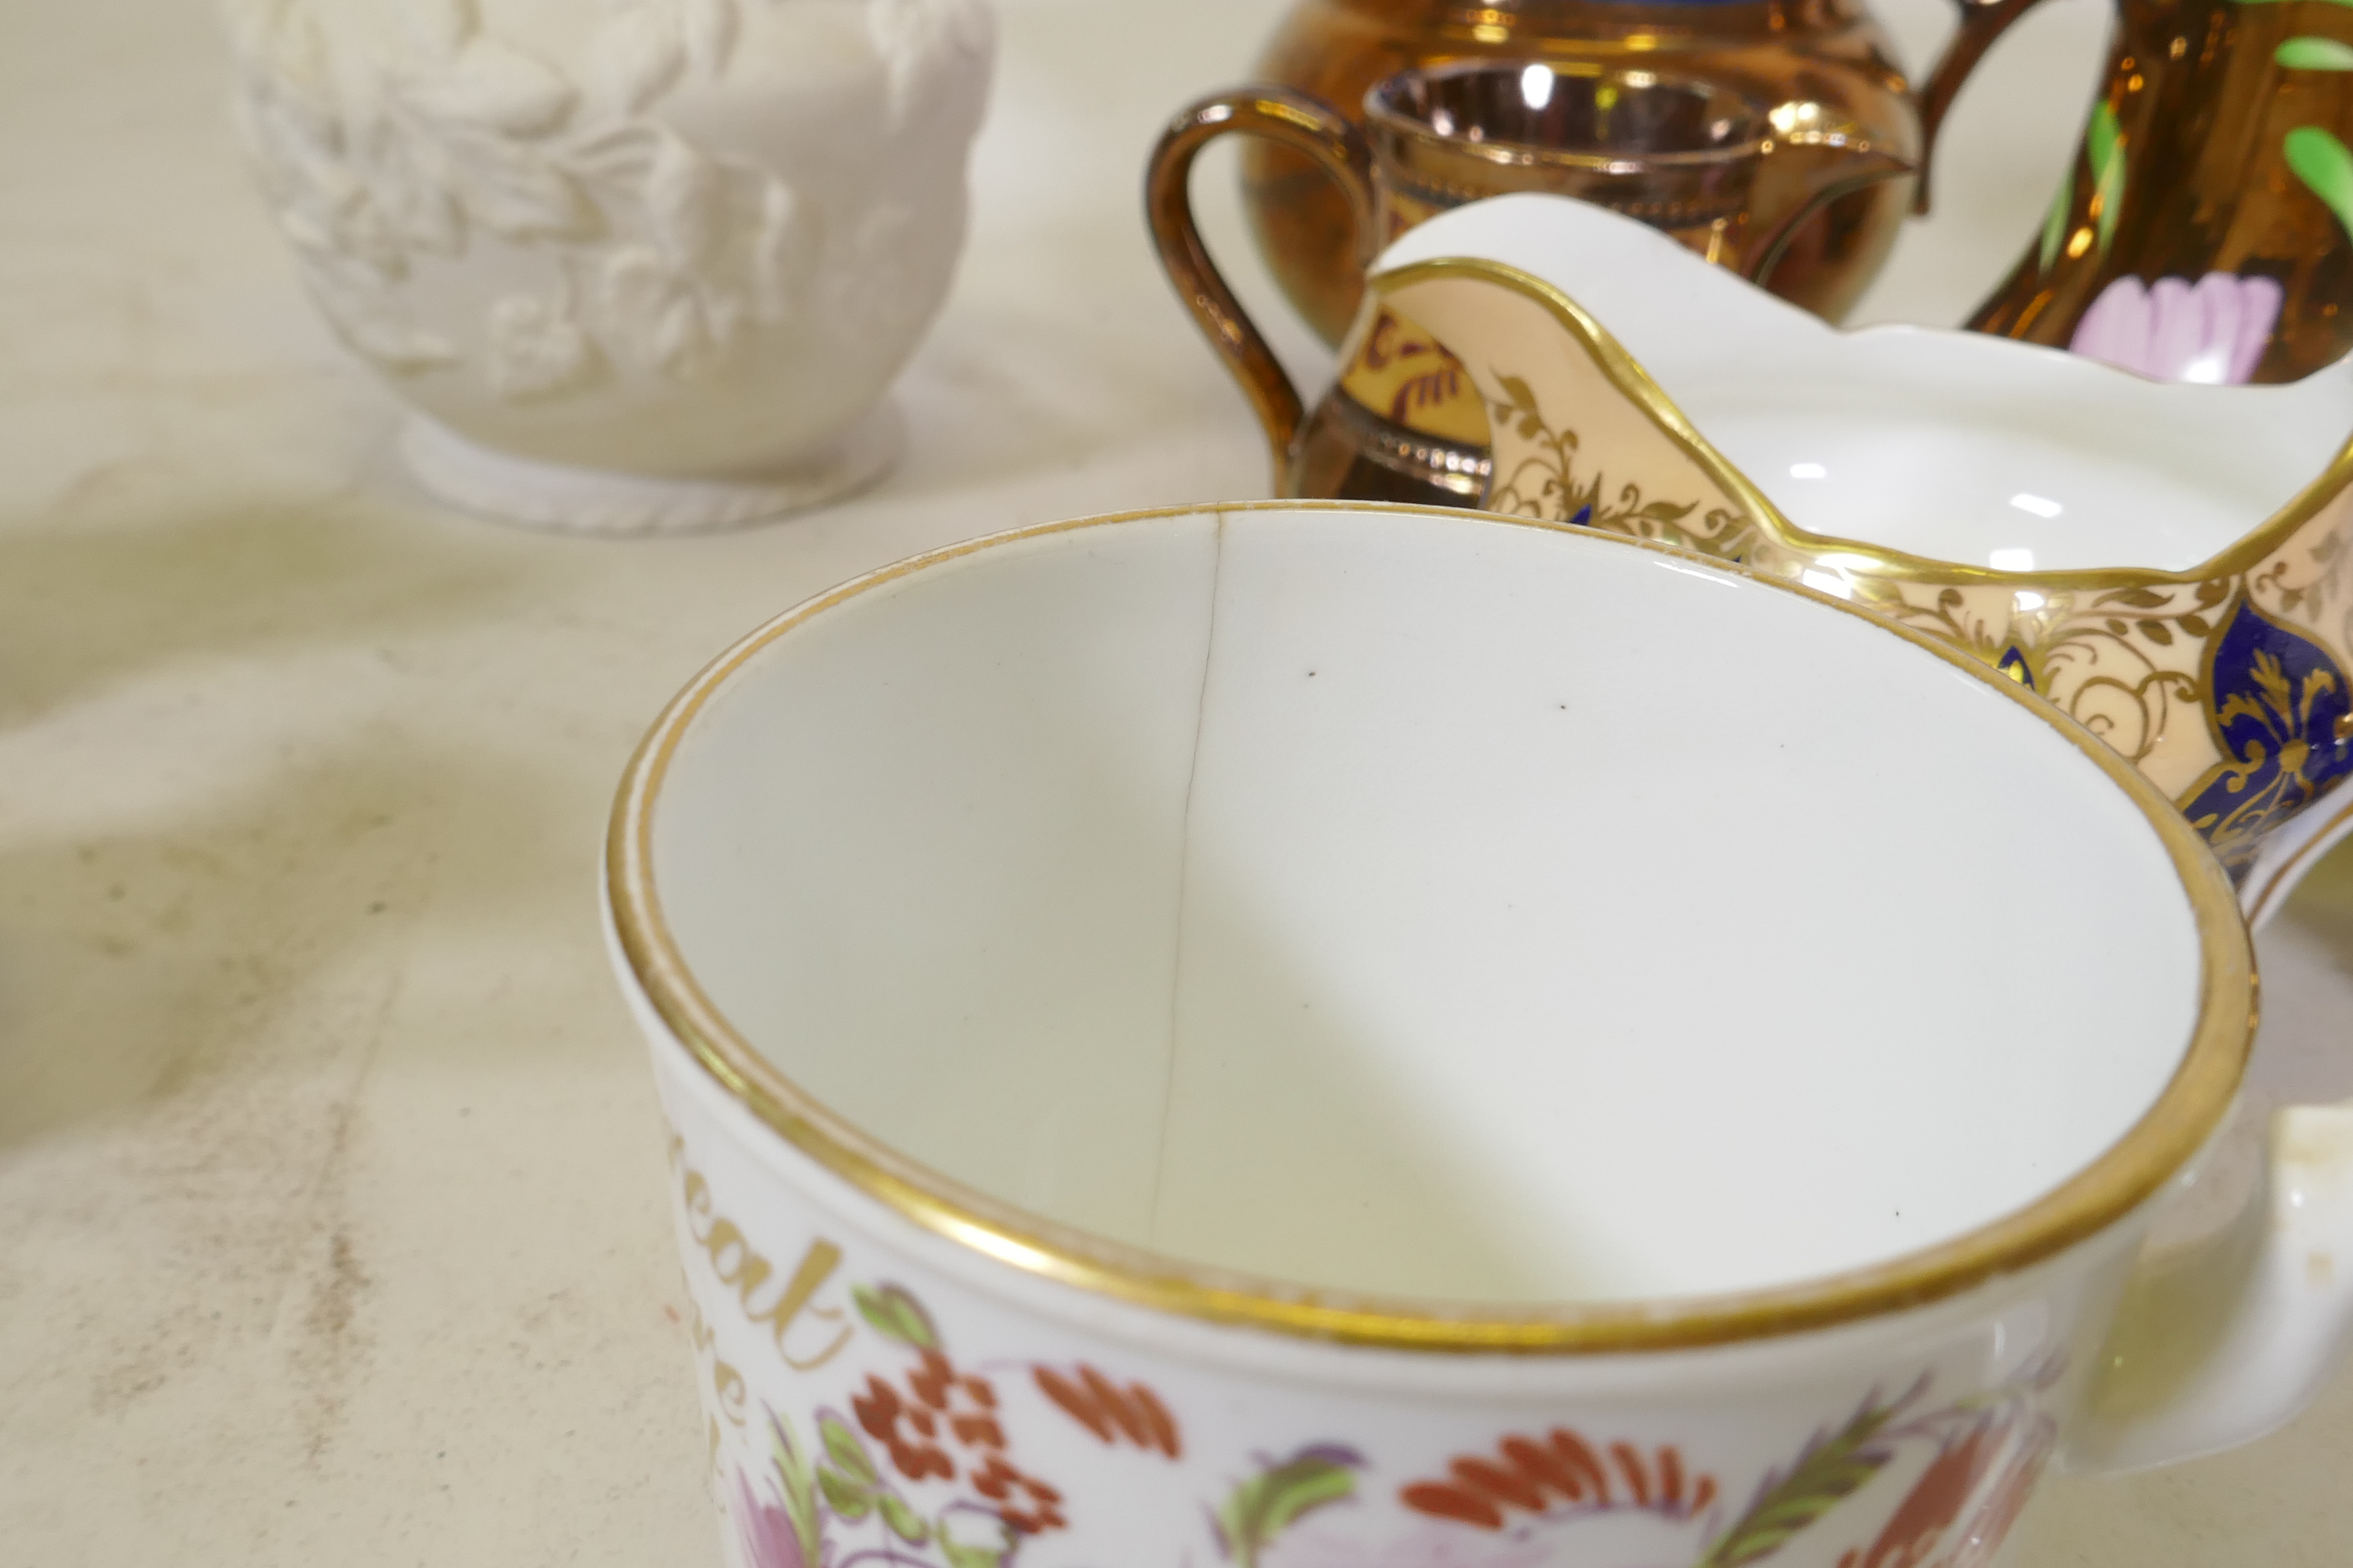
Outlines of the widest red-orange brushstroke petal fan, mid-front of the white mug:
M1506 1436L1497 1458L1461 1455L1447 1472L1447 1481L1409 1483L1400 1500L1417 1514L1482 1530L1501 1530L1511 1509L1544 1514L1555 1502L1692 1519L1718 1493L1715 1476L1687 1474L1673 1443L1645 1458L1633 1443L1595 1448L1567 1427L1553 1427L1544 1441Z

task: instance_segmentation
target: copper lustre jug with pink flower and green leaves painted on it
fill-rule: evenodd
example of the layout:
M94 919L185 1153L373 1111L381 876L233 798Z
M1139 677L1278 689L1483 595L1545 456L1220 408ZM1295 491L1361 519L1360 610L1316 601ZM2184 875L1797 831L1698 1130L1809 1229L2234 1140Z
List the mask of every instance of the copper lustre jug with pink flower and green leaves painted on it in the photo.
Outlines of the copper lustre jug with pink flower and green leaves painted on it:
M1965 0L1941 120L2035 0ZM1969 317L2162 381L2299 381L2353 348L2353 16L2118 0L2106 82L2042 233Z

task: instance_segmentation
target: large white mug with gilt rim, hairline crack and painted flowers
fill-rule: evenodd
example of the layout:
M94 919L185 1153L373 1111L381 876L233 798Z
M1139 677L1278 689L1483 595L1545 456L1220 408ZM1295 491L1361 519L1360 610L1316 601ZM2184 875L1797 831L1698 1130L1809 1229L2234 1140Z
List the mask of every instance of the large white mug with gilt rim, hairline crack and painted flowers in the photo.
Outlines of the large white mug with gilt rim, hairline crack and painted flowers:
M607 907L741 1568L1962 1568L2346 1328L2344 1107L2134 1272L2254 1027L2181 813L1591 529L878 571L671 705Z

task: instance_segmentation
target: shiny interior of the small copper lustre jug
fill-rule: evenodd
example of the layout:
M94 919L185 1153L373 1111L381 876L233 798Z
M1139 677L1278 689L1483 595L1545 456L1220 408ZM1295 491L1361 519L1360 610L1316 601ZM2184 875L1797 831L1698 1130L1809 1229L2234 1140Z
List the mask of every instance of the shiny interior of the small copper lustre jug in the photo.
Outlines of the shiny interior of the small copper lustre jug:
M1544 153L1642 160L1758 150L1748 99L1649 71L1464 61L1393 75L1372 89L1367 106L1438 136Z

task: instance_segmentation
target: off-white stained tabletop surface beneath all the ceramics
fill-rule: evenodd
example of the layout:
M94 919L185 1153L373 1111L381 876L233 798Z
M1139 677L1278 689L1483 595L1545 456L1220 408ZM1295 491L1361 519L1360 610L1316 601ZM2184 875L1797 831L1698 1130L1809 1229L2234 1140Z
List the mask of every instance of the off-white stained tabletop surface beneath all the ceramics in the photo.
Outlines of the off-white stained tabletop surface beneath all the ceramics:
M1946 26L1882 14L1915 66ZM598 945L614 778L812 590L1264 494L1139 169L1271 19L1002 0L899 470L776 527L593 543L402 477L393 402L235 160L205 0L0 5L0 1563L713 1561L659 1121ZM2019 28L1864 317L1958 320L2009 266L2104 33L2097 0ZM2264 961L2266 1093L2353 1093L2353 853ZM2353 1378L2240 1453L2054 1481L2014 1559L2341 1568Z

